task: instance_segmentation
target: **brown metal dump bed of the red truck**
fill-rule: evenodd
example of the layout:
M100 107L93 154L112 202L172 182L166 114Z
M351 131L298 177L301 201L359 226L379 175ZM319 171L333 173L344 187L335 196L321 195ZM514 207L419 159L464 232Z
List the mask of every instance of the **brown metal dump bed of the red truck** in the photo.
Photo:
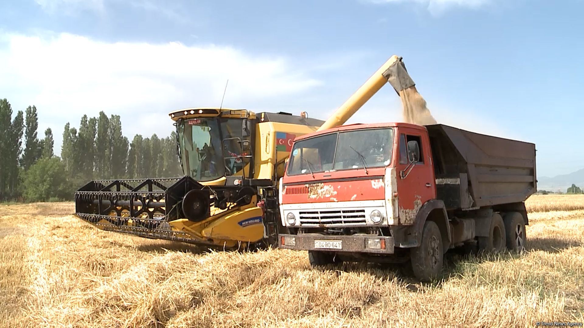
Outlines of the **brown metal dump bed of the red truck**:
M517 203L536 192L536 145L443 124L426 128L446 208Z

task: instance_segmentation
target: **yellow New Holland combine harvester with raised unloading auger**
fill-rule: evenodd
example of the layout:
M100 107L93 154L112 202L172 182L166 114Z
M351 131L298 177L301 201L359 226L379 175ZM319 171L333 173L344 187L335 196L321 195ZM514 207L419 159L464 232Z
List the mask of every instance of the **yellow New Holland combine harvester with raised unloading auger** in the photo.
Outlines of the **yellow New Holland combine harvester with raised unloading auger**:
M277 243L279 179L294 138L344 124L385 83L414 85L392 56L326 121L305 113L193 108L170 113L185 176L89 182L76 215L99 229L233 249Z

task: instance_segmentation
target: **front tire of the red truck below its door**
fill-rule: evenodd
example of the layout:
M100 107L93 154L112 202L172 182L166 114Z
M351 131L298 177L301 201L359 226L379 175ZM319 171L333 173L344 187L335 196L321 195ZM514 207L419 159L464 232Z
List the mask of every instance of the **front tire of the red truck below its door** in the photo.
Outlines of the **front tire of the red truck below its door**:
M422 243L410 253L413 274L420 281L435 280L442 271L444 248L436 222L426 221L422 231Z

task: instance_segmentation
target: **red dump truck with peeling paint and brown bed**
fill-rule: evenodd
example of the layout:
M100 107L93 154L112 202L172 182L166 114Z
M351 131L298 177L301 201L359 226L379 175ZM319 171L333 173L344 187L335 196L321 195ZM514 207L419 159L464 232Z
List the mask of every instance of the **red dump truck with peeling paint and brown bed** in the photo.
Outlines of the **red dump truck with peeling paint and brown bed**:
M421 281L465 244L521 250L535 145L442 124L353 124L294 140L280 181L279 246L313 266L411 263Z

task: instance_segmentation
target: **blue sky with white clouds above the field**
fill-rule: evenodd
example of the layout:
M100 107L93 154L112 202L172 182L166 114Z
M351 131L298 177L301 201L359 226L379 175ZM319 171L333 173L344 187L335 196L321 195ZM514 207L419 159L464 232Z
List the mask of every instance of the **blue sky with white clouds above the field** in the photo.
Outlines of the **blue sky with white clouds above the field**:
M0 2L0 97L168 135L183 107L326 118L391 55L439 123L534 142L538 175L584 168L582 0ZM385 86L349 123L401 120ZM559 138L558 136L568 138ZM558 152L557 149L571 149Z

